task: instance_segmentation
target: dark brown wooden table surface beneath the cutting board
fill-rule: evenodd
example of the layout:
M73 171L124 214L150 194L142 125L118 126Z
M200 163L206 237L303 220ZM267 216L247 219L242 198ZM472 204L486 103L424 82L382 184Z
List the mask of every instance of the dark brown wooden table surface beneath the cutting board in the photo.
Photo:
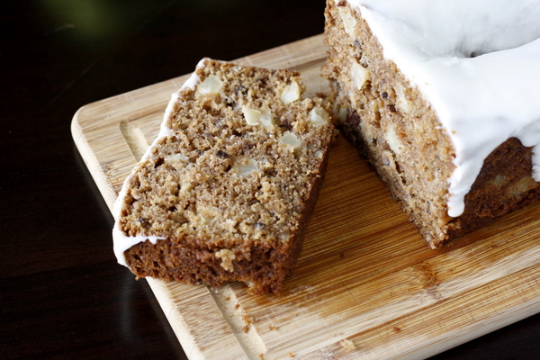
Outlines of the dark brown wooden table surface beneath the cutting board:
M323 0L4 2L0 358L185 358L71 138L76 110L323 31ZM540 358L540 315L437 359Z

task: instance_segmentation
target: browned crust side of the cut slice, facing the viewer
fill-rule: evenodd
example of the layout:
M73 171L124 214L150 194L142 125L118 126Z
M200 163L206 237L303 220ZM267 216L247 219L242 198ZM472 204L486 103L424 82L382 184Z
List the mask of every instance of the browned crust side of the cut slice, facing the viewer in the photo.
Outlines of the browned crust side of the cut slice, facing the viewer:
M290 246L289 246L290 245ZM246 283L249 293L279 292L286 276L293 273L302 241L270 247L259 243L247 250L234 251L232 272L226 270L218 249L203 249L173 244L170 240L139 243L126 251L125 257L133 274L186 284L207 284L220 287L233 281Z

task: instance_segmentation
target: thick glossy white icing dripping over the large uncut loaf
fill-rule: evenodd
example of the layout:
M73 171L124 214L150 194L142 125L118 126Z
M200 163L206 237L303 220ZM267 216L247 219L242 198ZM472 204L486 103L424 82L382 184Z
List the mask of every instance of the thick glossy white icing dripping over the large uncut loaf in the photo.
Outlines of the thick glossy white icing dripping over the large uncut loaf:
M391 59L425 96L455 146L448 214L483 160L516 137L533 148L540 181L538 0L348 0Z

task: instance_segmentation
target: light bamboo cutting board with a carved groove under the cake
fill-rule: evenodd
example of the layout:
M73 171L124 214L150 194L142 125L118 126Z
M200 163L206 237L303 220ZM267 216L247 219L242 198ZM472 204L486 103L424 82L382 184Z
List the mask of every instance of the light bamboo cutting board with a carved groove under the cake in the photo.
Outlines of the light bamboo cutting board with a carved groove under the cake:
M328 92L320 77L325 51L319 35L237 62L297 69L312 95ZM76 112L76 146L110 208L186 78ZM422 358L540 311L538 219L540 206L529 207L453 247L430 250L340 138L283 293L252 296L243 284L216 291L148 284L190 359Z

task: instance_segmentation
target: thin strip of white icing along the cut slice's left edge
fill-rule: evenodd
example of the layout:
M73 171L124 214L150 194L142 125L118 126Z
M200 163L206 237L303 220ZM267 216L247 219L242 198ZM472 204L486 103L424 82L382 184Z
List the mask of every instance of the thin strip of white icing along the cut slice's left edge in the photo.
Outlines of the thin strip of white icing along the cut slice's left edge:
M201 68L205 66L206 59L203 58L198 64L196 68ZM152 142L152 145L148 147L144 155L141 157L139 164L148 160L148 157L150 157L150 149L154 148L157 144L157 141L159 139L166 138L170 133L171 129L167 126L167 122L169 117L172 115L175 109L175 103L178 101L178 97L180 93L186 89L192 89L194 90L197 85L201 83L201 78L196 75L196 72L193 72L193 74L184 82L184 85L180 87L180 89L175 92L175 94L171 95L171 100L166 105L166 110L163 116L163 121L161 122L161 127L159 130L159 133L157 134L157 138L154 139ZM124 181L121 187L120 193L118 193L118 197L116 198L116 202L114 203L113 209L112 209L112 215L114 216L115 220L120 219L121 215L121 207L122 203L124 202L124 199L127 194L128 184L130 182L131 176L135 173L139 165L135 166L135 168L131 171L131 174L128 176L128 178ZM112 229L112 241L113 241L113 249L114 249L114 255L116 256L116 259L118 260L118 263L123 266L128 266L126 264L126 259L123 255L124 251L129 249L130 247L139 244L139 242L143 242L145 240L150 240L152 244L156 244L157 240L159 239L165 239L166 237L159 237L159 236L127 236L124 234L123 231L121 231L118 221L114 223L114 228Z

